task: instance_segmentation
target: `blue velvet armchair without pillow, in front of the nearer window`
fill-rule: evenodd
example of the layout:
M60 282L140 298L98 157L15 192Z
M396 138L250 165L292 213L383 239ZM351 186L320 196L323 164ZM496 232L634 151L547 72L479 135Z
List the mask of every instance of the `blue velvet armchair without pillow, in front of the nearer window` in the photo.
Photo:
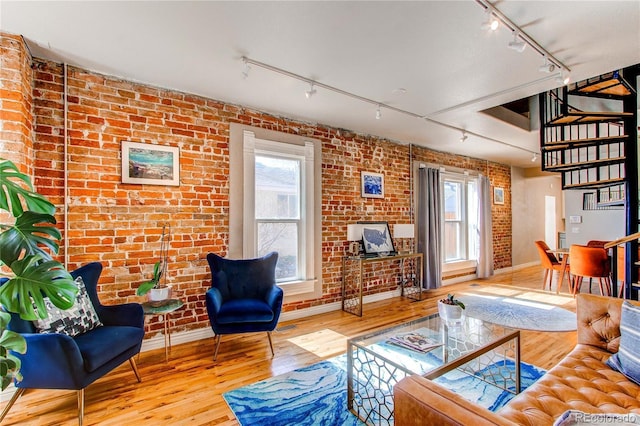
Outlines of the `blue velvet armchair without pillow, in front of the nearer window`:
M223 334L266 331L273 355L271 332L282 310L283 291L276 285L278 253L257 259L225 259L207 255L211 288L206 293L207 313L216 335L214 361Z

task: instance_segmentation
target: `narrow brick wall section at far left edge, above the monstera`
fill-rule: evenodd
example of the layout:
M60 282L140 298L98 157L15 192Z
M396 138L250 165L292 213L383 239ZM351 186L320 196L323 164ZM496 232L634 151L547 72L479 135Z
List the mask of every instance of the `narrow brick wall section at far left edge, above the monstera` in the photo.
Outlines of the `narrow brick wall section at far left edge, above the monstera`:
M19 36L0 33L0 152L33 173L31 57Z

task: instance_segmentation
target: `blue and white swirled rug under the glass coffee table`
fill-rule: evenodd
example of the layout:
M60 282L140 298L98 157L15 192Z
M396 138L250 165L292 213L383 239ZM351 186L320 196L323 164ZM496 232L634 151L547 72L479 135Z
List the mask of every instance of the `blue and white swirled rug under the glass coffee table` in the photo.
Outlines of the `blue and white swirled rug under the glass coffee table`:
M488 368L513 370L513 362ZM522 389L544 373L521 363ZM436 382L494 411L513 397L512 393L459 371L447 373ZM347 409L345 355L226 392L223 397L242 426L363 424Z

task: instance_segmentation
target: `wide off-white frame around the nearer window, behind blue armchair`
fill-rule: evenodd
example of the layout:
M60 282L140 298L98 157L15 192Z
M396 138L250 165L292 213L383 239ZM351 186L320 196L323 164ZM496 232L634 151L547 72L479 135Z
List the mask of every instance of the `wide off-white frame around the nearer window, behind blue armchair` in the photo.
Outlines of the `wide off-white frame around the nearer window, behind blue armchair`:
M304 231L299 239L305 275L300 280L279 282L287 302L318 298L322 295L321 257L321 142L311 138L231 124L229 182L229 257L250 258L256 255L256 221L253 190L255 188L255 154L277 153L301 158L304 169L304 198L301 216ZM300 268L300 265L299 265Z

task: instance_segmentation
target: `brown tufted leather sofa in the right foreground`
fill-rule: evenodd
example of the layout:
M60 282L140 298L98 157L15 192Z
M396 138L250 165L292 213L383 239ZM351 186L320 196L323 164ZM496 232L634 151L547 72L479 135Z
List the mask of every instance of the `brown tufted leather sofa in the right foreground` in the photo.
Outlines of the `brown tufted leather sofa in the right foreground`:
M621 299L579 294L576 347L498 412L414 375L394 388L395 424L541 426L570 409L640 414L640 386L605 364L618 351L621 305Z

